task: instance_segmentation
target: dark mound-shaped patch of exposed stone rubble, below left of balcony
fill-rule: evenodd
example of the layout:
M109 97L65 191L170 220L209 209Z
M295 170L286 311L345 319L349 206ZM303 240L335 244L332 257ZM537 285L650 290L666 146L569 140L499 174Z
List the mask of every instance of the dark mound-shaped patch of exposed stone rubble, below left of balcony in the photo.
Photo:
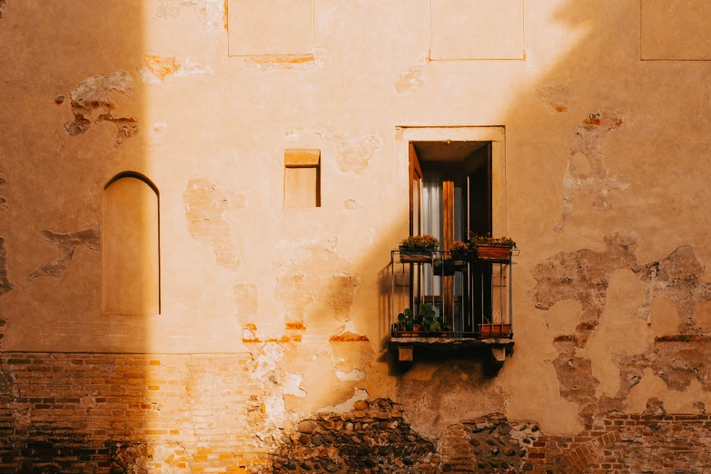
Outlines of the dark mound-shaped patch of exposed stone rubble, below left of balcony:
M324 413L284 434L273 472L422 473L439 469L436 443L420 437L391 400L357 401L345 413Z

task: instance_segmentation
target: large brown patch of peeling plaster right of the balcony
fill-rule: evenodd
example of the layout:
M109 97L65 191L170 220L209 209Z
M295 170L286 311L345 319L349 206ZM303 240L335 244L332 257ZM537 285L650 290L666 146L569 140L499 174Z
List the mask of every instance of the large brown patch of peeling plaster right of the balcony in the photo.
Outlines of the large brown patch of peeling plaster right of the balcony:
M668 390L685 391L694 380L708 390L711 339L692 331L696 306L711 300L708 284L700 281L705 264L693 248L680 246L666 259L639 265L633 233L609 234L605 242L604 252L559 252L533 271L538 283L529 297L538 309L563 300L580 304L575 332L554 340L558 357L552 364L561 396L578 404L580 416L589 417L625 410L640 380L647 377L645 391L653 387L650 373L664 380ZM674 305L682 333L668 335L669 321L650 318L651 302L665 300ZM634 399L635 410L640 397Z

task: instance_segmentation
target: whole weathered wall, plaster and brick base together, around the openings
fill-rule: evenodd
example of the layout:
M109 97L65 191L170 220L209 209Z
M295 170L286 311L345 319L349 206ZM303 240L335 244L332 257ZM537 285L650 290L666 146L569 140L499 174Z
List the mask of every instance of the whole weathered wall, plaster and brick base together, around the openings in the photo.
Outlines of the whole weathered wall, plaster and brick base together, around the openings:
M254 2L0 0L0 471L711 469L704 1L300 0L240 37ZM385 350L408 126L505 127L497 374ZM287 149L320 150L321 207L283 207ZM160 197L160 314L103 311L125 172Z

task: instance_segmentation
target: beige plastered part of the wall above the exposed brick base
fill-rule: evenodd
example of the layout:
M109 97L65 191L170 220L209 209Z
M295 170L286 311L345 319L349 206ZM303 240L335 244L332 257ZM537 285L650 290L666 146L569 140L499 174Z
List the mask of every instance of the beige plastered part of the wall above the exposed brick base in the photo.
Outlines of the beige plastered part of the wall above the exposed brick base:
M687 321L711 299L711 65L641 61L637 2L526 1L525 59L452 61L429 60L427 0L314 0L311 55L289 57L230 56L224 5L4 5L3 351L251 351L301 377L306 395L283 395L297 414L358 390L430 410L413 400L451 385L437 424L420 417L425 431L502 411L575 432L582 407L604 395L624 410L651 396L678 407L707 398L659 370L631 389L634 403L618 388L623 355L651 351L655 336L700 334ZM522 252L516 350L494 378L476 358L400 374L384 351L389 251L408 232L399 130L454 126L505 128L502 209ZM320 208L283 207L286 149L321 150ZM126 171L160 192L161 314L103 312L104 186ZM615 232L627 243L606 237ZM678 269L695 290L632 272L685 245L697 261ZM558 288L561 261L577 258L615 298ZM576 329L591 318L596 328ZM329 342L344 334L368 341ZM554 344L568 334L569 354ZM588 361L571 383L592 374L592 395L565 390L566 354Z

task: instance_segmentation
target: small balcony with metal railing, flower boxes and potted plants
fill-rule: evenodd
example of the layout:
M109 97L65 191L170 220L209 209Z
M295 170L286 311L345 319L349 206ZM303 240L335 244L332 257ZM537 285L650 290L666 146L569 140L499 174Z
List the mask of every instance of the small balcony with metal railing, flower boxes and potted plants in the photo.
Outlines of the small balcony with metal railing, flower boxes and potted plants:
M516 252L391 251L390 351L411 363L422 351L484 349L499 369L514 344Z

